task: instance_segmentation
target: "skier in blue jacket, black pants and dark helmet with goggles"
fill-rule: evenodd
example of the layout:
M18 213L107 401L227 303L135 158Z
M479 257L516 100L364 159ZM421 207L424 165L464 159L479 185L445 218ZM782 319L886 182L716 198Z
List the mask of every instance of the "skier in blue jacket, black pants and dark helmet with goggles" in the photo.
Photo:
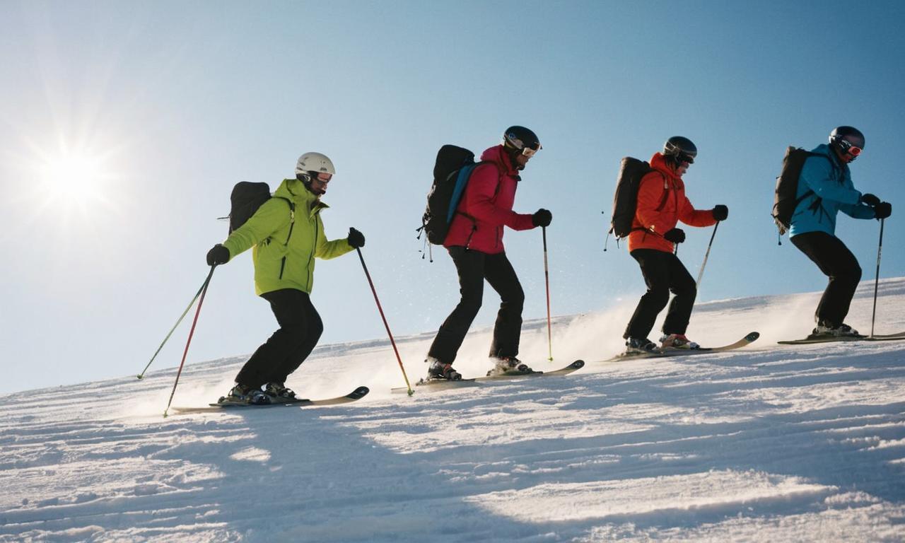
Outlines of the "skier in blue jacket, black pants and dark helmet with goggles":
M855 190L849 164L864 148L864 135L853 127L838 127L828 144L811 152L798 178L798 205L792 215L789 235L792 243L817 264L829 278L814 319L812 338L857 336L845 324L854 291L861 281L861 266L848 247L835 236L836 214L856 219L885 219L892 205L871 194Z

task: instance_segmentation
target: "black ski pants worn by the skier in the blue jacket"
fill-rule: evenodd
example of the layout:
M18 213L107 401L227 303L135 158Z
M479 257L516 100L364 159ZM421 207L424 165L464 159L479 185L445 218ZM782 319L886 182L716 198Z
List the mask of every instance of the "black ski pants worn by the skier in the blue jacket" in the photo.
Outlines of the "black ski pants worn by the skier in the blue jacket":
M799 251L817 264L830 279L814 319L818 324L837 328L843 324L852 305L854 291L861 281L861 266L845 243L825 232L799 233L792 238Z

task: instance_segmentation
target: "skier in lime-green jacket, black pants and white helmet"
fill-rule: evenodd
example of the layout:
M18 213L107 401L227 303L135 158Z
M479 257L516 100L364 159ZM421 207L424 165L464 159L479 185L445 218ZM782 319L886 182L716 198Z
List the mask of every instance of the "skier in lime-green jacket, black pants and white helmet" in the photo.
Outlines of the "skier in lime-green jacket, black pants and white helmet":
M214 266L251 247L254 291L270 302L280 325L235 376L224 401L270 404L295 397L286 378L310 355L324 329L310 300L314 259L336 258L365 245L365 236L355 228L349 228L345 239L328 241L324 234L320 212L328 205L320 196L335 173L329 157L305 153L295 179L284 179L274 191L278 197L207 252L207 264Z

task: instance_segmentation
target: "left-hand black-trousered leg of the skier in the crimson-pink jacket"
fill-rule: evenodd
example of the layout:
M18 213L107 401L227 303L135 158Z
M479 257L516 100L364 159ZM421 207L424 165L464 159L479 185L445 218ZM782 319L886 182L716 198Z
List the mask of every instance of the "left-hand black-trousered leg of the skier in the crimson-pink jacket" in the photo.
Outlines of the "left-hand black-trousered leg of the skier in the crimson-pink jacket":
M484 258L486 253L469 251L464 247L450 247L450 256L459 274L459 292L462 299L452 313L443 321L428 356L440 360L444 364L452 364L456 353L462 347L462 341L472 321L481 310L484 295Z

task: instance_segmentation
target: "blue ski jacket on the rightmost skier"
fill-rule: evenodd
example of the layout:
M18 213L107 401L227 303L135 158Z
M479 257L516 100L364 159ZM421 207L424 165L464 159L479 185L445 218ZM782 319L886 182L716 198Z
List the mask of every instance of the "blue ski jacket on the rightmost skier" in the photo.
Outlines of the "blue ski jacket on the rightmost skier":
M843 164L825 143L811 152L824 157L805 160L795 195L801 202L792 214L789 237L808 232L835 235L836 214L840 211L856 219L872 219L873 208L861 203L861 193L854 188L848 165Z

